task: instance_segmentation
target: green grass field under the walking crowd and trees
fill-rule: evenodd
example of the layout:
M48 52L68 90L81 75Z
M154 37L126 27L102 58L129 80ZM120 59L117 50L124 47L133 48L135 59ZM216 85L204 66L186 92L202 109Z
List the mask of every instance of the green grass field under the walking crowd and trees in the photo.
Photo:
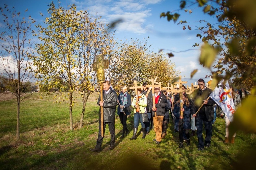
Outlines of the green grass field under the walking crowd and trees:
M129 140L130 116L131 133L120 139L122 125L116 119L116 147L108 150L107 127L102 152L94 153L89 148L94 148L98 136L97 94L89 97L83 128L73 131L68 105L54 103L50 97L38 99L39 95L21 103L19 141L15 139L15 100L0 102L0 169L250 169L255 164L256 135L238 131L235 144L225 145L225 121L220 118L213 125L211 147L204 151L197 151L196 136L191 137L190 146L179 149L179 134L173 133L172 122L160 145L152 141L154 131L142 139L141 125L137 140ZM75 127L82 111L81 100L77 102L72 108Z

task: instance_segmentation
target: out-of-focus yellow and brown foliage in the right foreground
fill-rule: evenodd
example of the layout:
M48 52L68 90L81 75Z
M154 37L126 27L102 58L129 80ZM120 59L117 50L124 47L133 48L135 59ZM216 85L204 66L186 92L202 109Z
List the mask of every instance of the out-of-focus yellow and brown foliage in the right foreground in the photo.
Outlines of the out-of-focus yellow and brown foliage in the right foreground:
M197 4L202 7L205 14L216 16L219 21L218 23L205 20L198 22L205 23L204 26L191 26L189 23L192 22L189 21L179 22L183 24L183 29L201 31L201 34L196 35L203 42L199 60L212 72L213 86L222 79L232 79L234 86L246 86L247 90L251 89L252 95L256 95L256 1L197 0L191 2L183 0L180 4L180 8L189 13L193 10L188 10L186 7ZM160 16L176 22L180 14L163 12ZM200 43L195 43L193 46L199 46ZM214 61L216 61L215 65ZM254 103L256 103L254 97L245 101L237 109L234 122L238 125L237 127L255 133Z

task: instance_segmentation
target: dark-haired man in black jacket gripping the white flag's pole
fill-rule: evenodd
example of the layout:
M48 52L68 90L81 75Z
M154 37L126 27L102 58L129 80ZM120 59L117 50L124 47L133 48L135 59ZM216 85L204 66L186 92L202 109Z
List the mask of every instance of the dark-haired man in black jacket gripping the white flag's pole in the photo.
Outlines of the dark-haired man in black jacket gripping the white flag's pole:
M212 120L214 119L213 105L215 102L211 98L206 100L212 93L212 90L205 87L204 80L199 79L197 83L199 89L196 89L193 93L191 109L193 117L196 117L198 150L204 150L204 147L211 146ZM202 104L202 108L195 114ZM206 131L205 145L203 143L203 123Z

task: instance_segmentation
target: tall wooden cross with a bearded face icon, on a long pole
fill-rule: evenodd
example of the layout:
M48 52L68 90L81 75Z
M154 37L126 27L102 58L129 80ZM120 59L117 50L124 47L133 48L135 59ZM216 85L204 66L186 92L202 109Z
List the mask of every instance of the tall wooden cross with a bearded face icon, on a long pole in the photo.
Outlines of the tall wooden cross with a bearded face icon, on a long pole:
M100 101L103 101L103 82L105 80L104 69L109 68L109 60L104 60L104 55L100 54L96 56L96 62L93 63L93 71L97 71L97 82L100 83ZM103 128L103 106L100 106L100 118L101 118L101 136L104 137Z

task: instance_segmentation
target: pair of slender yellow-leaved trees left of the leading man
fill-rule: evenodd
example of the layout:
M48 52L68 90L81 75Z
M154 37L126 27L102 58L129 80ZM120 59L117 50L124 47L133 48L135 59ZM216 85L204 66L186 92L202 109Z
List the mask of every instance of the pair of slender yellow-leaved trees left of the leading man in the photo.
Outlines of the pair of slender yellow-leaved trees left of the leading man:
M63 92L62 98L69 100L72 130L73 92L79 91L82 97L82 127L86 102L96 84L92 63L96 55L108 55L114 41L99 18L91 19L87 11L76 11L75 4L64 9L61 6L56 8L52 2L48 13L46 27L37 26L42 43L36 45L39 55L33 58L37 66L35 72L40 82L47 84L48 88L58 87Z

